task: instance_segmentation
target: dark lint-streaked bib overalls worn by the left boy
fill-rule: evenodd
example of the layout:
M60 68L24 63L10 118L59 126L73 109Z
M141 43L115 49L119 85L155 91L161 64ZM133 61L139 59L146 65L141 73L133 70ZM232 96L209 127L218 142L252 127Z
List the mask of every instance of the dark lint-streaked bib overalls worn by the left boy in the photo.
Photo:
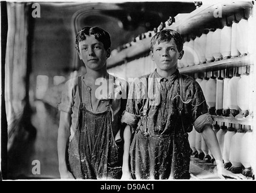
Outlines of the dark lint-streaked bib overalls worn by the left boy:
M76 131L68 146L68 167L76 179L120 179L122 147L117 145L111 127L112 99L107 110L93 113L82 103L82 81L78 77L80 98Z

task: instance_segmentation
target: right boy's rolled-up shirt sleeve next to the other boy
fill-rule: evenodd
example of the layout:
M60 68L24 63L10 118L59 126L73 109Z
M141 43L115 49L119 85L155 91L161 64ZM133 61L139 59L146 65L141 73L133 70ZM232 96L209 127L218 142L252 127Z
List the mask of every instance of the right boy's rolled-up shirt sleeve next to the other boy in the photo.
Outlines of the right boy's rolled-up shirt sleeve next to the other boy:
M130 84L129 92L128 92L128 99L126 104L125 112L123 112L121 122L127 125L130 125L133 128L137 128L137 124L140 120L140 106L142 98L137 97L137 93L140 92L139 90L139 79L134 80Z

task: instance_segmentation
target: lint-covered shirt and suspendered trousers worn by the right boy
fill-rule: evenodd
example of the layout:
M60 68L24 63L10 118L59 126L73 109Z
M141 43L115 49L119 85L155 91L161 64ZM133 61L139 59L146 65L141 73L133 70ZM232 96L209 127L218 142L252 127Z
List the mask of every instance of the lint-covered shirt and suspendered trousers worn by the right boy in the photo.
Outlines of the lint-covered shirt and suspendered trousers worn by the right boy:
M134 179L189 179L188 132L192 125L202 132L212 118L197 81L178 70L168 78L154 71L131 84L122 122L136 130L130 148Z

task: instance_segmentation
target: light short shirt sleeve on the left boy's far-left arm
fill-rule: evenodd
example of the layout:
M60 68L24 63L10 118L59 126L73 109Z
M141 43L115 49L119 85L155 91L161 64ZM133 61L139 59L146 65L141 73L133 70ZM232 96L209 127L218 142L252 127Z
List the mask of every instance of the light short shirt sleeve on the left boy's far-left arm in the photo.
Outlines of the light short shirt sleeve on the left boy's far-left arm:
M61 103L58 104L58 109L67 113L72 113L74 105L73 100L74 80L68 80L63 87L61 94Z

